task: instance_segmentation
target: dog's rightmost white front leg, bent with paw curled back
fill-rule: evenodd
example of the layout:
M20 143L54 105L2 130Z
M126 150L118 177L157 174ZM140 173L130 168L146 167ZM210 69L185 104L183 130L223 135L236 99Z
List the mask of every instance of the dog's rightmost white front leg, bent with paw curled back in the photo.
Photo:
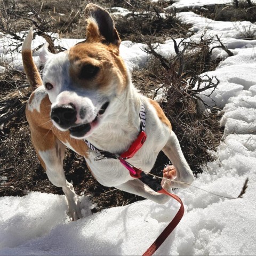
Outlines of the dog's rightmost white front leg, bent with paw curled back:
M173 131L162 149L164 154L170 159L176 170L176 177L173 181L164 181L164 186L172 188L186 188L194 181L193 172L190 170L188 163L181 151L180 143ZM166 174L167 177L167 174ZM187 184L178 183L175 181L185 182Z

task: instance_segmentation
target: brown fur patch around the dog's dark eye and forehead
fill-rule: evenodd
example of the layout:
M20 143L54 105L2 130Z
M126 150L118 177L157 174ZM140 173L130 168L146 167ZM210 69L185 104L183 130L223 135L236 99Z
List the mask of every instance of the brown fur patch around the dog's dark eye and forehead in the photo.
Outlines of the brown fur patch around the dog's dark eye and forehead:
M109 85L116 84L117 91L122 91L128 83L127 70L119 50L113 45L102 43L85 42L77 44L69 51L71 79L86 89L110 89ZM95 77L90 79L79 79L81 69L85 65L97 66L99 68ZM113 89L111 89L113 90Z

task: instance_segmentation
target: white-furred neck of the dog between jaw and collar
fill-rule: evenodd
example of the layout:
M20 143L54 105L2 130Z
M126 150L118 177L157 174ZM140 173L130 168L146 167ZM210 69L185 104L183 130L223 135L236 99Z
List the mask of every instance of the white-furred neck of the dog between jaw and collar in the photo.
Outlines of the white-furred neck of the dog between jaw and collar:
M113 110L105 118L107 121L102 122L86 139L99 149L121 154L130 147L140 132L141 103L140 94L129 81L125 92L112 102Z

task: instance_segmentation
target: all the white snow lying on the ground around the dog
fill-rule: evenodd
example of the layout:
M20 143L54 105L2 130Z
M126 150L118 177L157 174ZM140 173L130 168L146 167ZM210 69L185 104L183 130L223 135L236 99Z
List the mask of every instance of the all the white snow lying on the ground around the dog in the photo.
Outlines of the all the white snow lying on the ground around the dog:
M218 0L180 0L173 5L199 6L206 2ZM248 29L255 25L244 21L234 26L233 22L217 22L192 12L180 13L180 17L192 25L191 39L196 40L202 34L218 35L234 56L228 57L222 49L213 51L212 58L222 61L207 75L217 76L220 84L211 98L201 97L207 105L223 107L220 121L224 127L223 140L216 151L209 152L215 160L205 164L205 172L193 186L174 191L185 204L185 215L155 254L255 255L256 40L244 40L237 30L237 26ZM10 39L3 36L1 39L5 41L0 47L1 58L17 67L20 55L7 48ZM36 38L33 42L33 47L37 47L43 39ZM56 40L66 48L76 42L75 39ZM130 70L147 62L143 47L143 44L122 42L121 55ZM158 51L173 55L173 42L159 45ZM4 71L4 67L1 69ZM249 187L243 198L227 199L201 190L237 197L247 177ZM4 179L0 177L0 181ZM179 209L172 199L164 205L145 200L91 214L90 198L80 196L79 199L84 218L71 222L66 215L64 196L30 192L23 197L1 197L0 255L139 255L155 241Z

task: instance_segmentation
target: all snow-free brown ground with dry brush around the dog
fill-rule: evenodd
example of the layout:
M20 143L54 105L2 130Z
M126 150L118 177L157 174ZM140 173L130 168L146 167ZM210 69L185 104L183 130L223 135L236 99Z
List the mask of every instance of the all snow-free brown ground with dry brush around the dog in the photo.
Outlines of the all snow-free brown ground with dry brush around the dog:
M188 25L182 25L175 14L168 13L165 21L159 15L163 12L163 7L170 5L172 1L165 4L145 4L145 1L132 0L94 2L102 7L119 6L133 11L128 17L122 19L114 17L122 40L147 43L164 42L167 38L186 36L189 28ZM83 11L87 3L88 1L79 0L69 0L68 3L54 0L47 2L20 0L13 4L6 0L2 2L4 6L0 8L2 9L0 31L10 34L13 31L26 30L31 23L34 23L34 27L39 31L38 34L53 31L59 33L62 38L84 38L86 24ZM72 9L67 9L66 6L72 6ZM235 9L225 7L220 5L219 9L215 7L208 8L207 11L204 9L195 11L201 12L206 17L212 18L215 15L216 19L223 20L225 16L225 19L231 20L230 15L223 16L222 13L228 14ZM231 11L231 9L234 10ZM135 11L142 10L148 11L143 17L135 13ZM250 9L250 12L254 10ZM113 11L109 9L109 12ZM235 11L239 12L239 15L236 15L237 19L243 19L244 9ZM250 17L251 21L255 21L255 15L250 14ZM204 71L212 70L217 65L208 60L207 54L210 49L205 42L196 47L201 47L200 49L203 51L199 51L200 54L193 56L193 61L187 62L187 69L182 77L177 78L170 69L161 66L161 60L159 61L157 58L150 62L145 69L134 70L132 73L134 84L144 94L147 94L149 89L158 86L159 83L174 83L173 79L176 78L180 82L175 82L179 85L178 88L173 86L176 89L167 92L169 99L167 103L160 103L173 124L185 157L195 175L201 172L202 164L210 161L209 149L214 149L218 145L222 135L218 111L213 111L213 114L207 118L202 116L197 111L197 101L190 97L187 91L182 91L183 80L191 75L199 75ZM195 63L199 63L199 65L195 65ZM0 64L4 65L5 63ZM172 69L175 68L172 66ZM29 127L24 112L31 89L25 75L22 71L10 68L7 73L0 74L0 88L0 196L22 196L26 195L28 191L62 194L62 190L53 186L47 179L31 145ZM166 163L166 157L160 154L153 173L163 175L162 170ZM67 180L74 184L76 193L91 195L92 203L95 205L92 209L93 212L143 199L115 188L101 186L87 170L84 159L71 150L66 152L64 168Z

